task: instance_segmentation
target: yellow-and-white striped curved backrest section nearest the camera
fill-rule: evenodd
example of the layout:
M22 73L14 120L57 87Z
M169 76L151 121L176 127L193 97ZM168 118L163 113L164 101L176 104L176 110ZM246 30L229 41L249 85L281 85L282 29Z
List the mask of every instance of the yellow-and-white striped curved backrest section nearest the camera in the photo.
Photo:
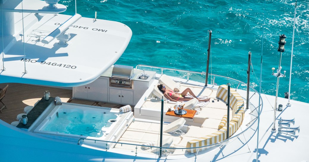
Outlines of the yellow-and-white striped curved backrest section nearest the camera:
M215 144L215 143L219 143L219 142L221 142L225 139L226 139L226 132L217 131L213 134L209 134L207 136L188 141L187 148L208 146L208 145L212 145L212 144ZM208 148L209 147L206 147L206 148L202 147L200 149L188 149L187 151L190 152L190 153L195 153L195 152L197 152L197 150L203 151L203 150L208 149Z

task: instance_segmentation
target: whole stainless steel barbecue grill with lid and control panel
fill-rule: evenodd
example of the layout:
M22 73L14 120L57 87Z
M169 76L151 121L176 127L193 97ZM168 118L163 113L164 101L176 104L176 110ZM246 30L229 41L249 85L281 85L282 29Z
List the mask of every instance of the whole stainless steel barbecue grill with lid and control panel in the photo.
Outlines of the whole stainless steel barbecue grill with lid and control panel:
M112 70L112 77L109 79L109 86L132 89L133 80L131 80L131 78L133 74L133 66L114 65Z

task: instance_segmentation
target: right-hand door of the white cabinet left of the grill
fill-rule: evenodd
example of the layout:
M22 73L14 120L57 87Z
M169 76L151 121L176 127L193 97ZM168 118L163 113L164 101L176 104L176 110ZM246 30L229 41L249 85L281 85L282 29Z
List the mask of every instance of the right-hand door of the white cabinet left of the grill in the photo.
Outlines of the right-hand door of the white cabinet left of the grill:
M98 78L88 84L88 99L107 101L107 79Z

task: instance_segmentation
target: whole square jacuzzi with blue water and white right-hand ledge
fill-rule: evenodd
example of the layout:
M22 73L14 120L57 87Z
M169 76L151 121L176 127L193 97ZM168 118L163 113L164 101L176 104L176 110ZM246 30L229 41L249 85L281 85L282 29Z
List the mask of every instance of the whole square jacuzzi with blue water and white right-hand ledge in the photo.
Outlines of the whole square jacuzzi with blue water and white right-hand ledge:
M47 137L115 141L133 120L133 112L82 104L50 104L29 129Z

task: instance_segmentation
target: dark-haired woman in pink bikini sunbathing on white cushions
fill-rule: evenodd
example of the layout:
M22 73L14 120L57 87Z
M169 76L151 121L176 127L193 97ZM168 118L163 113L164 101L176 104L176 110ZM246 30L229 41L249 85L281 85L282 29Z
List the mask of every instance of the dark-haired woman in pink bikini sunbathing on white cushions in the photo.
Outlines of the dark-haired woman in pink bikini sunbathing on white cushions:
M165 86L163 85L163 84L159 84L158 85L158 88L159 88L159 90L163 93L163 95L167 98L167 99L169 99L169 100L171 100L171 101L188 101L188 100L192 100L193 98L192 97L185 97L185 96L187 96L187 93L189 92L189 94L191 95L191 96L193 96L194 98L196 98L198 101L205 101L205 102L207 102L207 101L209 101L210 100L210 98L209 99L206 99L206 100L202 100L202 99L199 99L199 98L197 98L197 96L195 96L194 95L194 93L192 92L192 90L190 89L190 88L186 88L183 92L181 92L181 93L176 93L176 92L174 92L174 91L172 91L172 90L170 90L170 89L166 89L165 88Z

